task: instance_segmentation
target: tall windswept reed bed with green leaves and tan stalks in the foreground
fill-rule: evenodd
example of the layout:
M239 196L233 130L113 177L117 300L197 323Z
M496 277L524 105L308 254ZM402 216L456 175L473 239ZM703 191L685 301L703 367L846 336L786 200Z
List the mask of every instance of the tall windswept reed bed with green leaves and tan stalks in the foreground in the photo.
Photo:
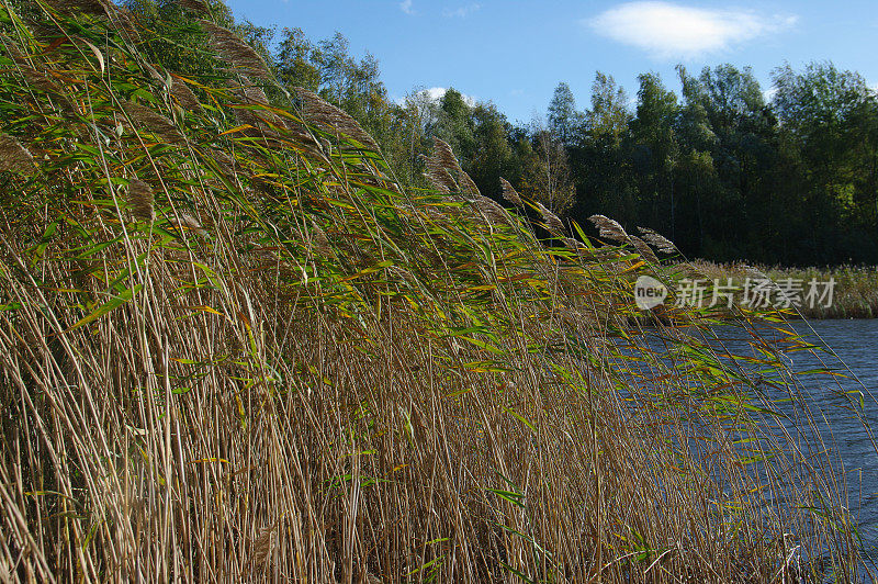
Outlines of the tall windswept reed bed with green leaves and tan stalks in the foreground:
M203 29L168 71L111 4L0 1L0 580L868 575L781 319L632 326L661 236L506 209L441 142L404 190Z

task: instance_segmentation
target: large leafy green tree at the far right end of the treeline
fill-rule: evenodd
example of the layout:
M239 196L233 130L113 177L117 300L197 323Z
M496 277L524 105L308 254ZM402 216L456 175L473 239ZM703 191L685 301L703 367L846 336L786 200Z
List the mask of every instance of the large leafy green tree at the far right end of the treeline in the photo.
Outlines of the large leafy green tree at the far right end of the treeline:
M832 63L776 69L784 156L803 178L804 249L823 261L876 255L878 105L862 76Z

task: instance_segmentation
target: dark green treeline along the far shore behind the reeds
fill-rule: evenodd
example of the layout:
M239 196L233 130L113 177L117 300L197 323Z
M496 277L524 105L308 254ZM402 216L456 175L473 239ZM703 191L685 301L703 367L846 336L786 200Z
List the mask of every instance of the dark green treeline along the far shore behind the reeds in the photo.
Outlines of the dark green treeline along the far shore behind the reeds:
M157 59L176 70L209 66L199 63L196 23L179 25L191 16L176 1L127 5L176 31L147 41ZM222 3L212 10L261 49L282 85L356 117L404 183L427 186L419 156L438 136L484 194L499 199L505 177L567 220L600 213L649 226L691 257L878 263L878 99L832 63L777 68L770 99L750 68L732 65L697 75L678 66L679 96L643 74L633 101L597 72L587 108L562 82L545 122L522 126L453 89L392 100L378 60L351 56L340 34L314 42L301 29L235 24ZM173 34L182 37L168 42Z

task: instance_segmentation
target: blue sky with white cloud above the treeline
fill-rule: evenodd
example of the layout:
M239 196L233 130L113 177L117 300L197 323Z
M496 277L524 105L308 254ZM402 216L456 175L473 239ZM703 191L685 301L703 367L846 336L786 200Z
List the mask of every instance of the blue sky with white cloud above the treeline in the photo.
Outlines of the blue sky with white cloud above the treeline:
M393 98L452 86L493 101L510 121L544 115L554 87L570 83L588 106L596 70L633 99L637 75L655 71L678 90L674 66L750 65L770 89L789 61L832 60L878 86L878 3L792 0L227 0L238 19L299 26L312 40L335 31L351 53L381 63Z

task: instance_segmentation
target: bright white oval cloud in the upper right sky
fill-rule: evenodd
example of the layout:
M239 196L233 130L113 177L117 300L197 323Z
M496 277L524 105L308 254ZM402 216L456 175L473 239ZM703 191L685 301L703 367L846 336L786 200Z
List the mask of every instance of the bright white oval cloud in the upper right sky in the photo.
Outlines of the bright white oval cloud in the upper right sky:
M586 20L614 41L660 59L697 57L789 29L797 16L691 8L671 2L627 2Z

